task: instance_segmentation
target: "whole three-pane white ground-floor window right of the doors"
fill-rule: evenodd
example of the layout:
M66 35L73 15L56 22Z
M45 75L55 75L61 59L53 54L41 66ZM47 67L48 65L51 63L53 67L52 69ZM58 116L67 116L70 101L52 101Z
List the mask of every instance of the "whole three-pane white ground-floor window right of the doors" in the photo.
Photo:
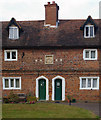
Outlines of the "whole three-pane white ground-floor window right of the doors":
M99 89L99 77L80 77L80 89Z

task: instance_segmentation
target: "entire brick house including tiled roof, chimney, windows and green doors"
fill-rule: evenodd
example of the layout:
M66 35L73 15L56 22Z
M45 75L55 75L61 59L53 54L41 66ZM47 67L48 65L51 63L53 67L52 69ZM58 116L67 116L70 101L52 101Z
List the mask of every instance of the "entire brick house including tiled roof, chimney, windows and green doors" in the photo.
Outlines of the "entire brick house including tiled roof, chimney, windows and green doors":
M58 10L48 2L45 21L2 22L3 97L99 101L100 20L59 20Z

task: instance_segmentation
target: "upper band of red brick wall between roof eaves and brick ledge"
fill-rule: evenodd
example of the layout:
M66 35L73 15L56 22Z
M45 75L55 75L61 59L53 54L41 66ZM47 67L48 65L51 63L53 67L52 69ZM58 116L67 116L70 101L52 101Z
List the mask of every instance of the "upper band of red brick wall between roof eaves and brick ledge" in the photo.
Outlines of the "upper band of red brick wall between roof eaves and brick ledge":
M23 52L25 56L22 59ZM98 50L99 54L99 50ZM45 64L45 55L54 55L54 64ZM3 52L4 56L4 52ZM42 61L40 61L42 59ZM58 59L58 61L55 61ZM62 59L62 62L60 61ZM38 60L35 62L35 60ZM18 50L18 61L4 61L3 70L99 70L98 60L83 60L83 49L63 49L63 50Z

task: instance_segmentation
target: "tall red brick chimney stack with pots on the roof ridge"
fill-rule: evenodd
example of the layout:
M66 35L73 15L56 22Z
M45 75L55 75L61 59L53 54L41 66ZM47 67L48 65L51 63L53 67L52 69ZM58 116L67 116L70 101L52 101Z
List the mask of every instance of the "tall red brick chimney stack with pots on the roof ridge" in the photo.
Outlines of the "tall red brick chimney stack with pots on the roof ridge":
M45 26L58 26L58 10L59 6L55 1L53 1L52 4L48 2L48 4L45 5Z

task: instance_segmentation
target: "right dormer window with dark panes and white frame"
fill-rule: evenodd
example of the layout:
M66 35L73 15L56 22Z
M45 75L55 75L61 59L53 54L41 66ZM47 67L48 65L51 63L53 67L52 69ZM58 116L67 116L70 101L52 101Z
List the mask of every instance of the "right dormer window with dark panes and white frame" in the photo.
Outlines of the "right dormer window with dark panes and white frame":
M85 38L93 38L93 37L95 37L94 25L85 25L84 37Z

